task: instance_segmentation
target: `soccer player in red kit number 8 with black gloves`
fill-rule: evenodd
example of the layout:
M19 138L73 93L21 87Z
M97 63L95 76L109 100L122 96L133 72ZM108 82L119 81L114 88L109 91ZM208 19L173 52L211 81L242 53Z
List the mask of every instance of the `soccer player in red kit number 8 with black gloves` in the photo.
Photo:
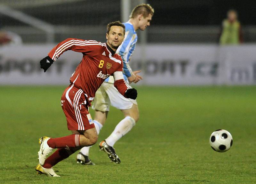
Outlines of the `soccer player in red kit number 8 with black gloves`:
M63 52L72 50L83 53L83 59L72 74L70 85L61 97L61 107L67 118L68 130L72 134L60 138L44 136L39 139L41 145L36 171L58 177L52 166L82 147L97 142L97 131L88 107L91 106L95 92L108 76L114 76L114 85L125 98L136 99L137 91L127 87L122 73L123 61L116 53L116 49L124 40L124 34L124 24L120 21L110 22L107 26L107 43L68 38L56 45L48 56L40 61L45 72ZM55 148L58 149L47 158Z

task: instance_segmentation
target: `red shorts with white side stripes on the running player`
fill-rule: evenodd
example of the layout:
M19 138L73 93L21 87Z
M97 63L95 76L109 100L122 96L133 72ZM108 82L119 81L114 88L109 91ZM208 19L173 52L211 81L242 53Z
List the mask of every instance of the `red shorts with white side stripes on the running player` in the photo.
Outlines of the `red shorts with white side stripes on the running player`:
M95 127L86 103L82 89L71 84L65 89L61 96L61 107L67 118L68 130L88 130Z

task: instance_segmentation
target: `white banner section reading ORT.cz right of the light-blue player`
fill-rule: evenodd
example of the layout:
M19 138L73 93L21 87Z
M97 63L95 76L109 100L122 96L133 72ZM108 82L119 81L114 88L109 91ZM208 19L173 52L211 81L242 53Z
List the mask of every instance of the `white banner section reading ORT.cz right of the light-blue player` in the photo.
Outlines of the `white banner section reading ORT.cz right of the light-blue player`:
M137 49L137 50L136 50ZM140 48L135 48L131 66L140 62ZM144 84L193 85L217 83L218 67L215 45L148 45L145 61L140 63Z

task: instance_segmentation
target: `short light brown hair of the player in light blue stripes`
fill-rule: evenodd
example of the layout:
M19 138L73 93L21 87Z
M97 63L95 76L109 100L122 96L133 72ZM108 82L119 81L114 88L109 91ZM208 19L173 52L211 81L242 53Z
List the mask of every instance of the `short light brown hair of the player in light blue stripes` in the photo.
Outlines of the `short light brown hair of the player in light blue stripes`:
M131 18L135 18L138 15L142 14L144 18L148 17L149 14L154 15L154 9L149 4L139 4L135 8L133 8L132 13L130 15Z

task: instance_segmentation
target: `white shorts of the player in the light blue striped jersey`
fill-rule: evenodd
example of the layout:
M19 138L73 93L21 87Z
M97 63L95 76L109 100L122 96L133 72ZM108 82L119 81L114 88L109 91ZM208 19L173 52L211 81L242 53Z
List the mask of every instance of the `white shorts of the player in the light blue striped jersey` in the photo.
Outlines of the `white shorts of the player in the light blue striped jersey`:
M92 109L106 112L109 111L111 105L117 109L124 110L132 108L133 104L137 105L137 101L125 98L117 91L114 84L103 82L95 93Z

